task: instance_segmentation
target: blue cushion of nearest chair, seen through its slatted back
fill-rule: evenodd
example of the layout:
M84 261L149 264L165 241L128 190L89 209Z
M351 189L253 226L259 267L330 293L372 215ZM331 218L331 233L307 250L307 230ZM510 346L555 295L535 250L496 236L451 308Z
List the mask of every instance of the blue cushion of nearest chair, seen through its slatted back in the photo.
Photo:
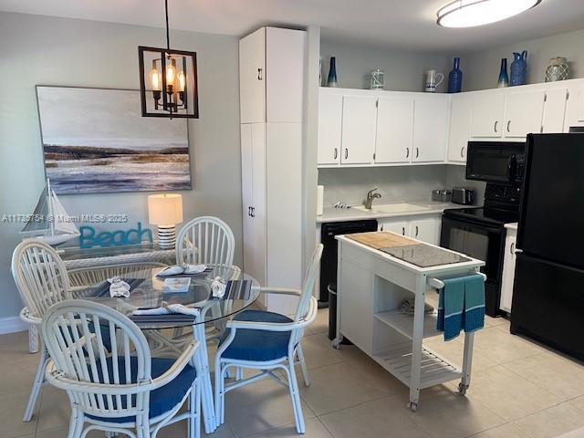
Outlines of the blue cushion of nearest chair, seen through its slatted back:
M110 382L113 381L112 377L112 360L111 358L106 359L108 363L108 370L110 373ZM126 381L126 367L124 365L124 359L118 359L118 369L120 371L120 382ZM173 359L166 358L152 358L151 365L151 376L152 379L162 376L167 370L172 367L174 363ZM136 383L136 370L138 369L138 360L135 357L130 358L130 370L132 383ZM103 382L103 373L101 371L101 365L98 362L98 374L99 381ZM169 412L174 406L180 403L186 393L193 386L193 381L196 379L196 370L191 365L187 365L179 373L179 375L170 383L158 388L157 390L151 391L150 393L150 411L149 417L155 418L162 415L164 412ZM135 400L135 395L132 396L132 402ZM115 399L115 398L114 398ZM114 400L114 404L116 401ZM122 396L122 407L127 406L127 398ZM94 415L88 415L89 418L98 420L101 422L134 422L136 420L135 416L129 417L119 417L119 418L105 418L98 417Z

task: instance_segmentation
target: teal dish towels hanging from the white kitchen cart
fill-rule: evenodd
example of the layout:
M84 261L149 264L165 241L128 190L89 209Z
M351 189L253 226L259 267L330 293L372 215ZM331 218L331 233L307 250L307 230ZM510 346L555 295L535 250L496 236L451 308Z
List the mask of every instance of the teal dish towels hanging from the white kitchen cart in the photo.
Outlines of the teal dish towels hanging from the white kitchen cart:
M462 276L443 280L438 299L437 329L444 340L456 338L485 325L485 280L483 276Z

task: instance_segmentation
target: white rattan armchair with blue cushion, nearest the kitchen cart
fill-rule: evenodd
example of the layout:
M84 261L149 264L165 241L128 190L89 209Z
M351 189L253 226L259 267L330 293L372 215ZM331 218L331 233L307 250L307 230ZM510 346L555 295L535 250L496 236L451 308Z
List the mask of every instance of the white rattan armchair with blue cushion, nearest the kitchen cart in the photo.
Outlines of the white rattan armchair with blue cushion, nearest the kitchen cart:
M215 415L219 424L224 422L225 393L266 377L288 386L297 433L305 433L306 427L300 403L295 365L300 364L305 383L308 370L300 347L305 329L317 317L318 303L312 292L320 266L322 245L315 249L307 274L302 282L302 291L284 288L262 288L263 292L286 294L298 297L294 319L273 312L245 310L227 323L227 331L215 356ZM260 370L255 376L225 385L230 367L236 370L248 368ZM287 381L282 381L274 370L284 370Z

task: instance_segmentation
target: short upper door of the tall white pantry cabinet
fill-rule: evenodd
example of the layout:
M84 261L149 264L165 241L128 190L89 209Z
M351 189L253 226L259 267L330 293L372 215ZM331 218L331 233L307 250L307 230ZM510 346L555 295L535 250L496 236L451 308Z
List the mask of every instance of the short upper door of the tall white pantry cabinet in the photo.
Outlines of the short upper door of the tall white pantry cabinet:
M239 41L239 101L242 123L266 119L266 27Z

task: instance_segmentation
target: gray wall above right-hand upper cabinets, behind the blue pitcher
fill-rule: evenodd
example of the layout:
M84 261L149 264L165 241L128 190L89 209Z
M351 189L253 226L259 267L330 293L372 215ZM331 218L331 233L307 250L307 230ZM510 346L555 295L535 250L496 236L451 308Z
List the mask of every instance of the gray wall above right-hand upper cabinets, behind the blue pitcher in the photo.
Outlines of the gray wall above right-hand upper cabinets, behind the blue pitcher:
M493 89L499 77L501 58L513 60L513 52L527 50L527 83L545 81L545 70L550 57L568 57L570 78L584 78L584 30L546 36L529 41L495 47L461 55L464 72L464 90Z

